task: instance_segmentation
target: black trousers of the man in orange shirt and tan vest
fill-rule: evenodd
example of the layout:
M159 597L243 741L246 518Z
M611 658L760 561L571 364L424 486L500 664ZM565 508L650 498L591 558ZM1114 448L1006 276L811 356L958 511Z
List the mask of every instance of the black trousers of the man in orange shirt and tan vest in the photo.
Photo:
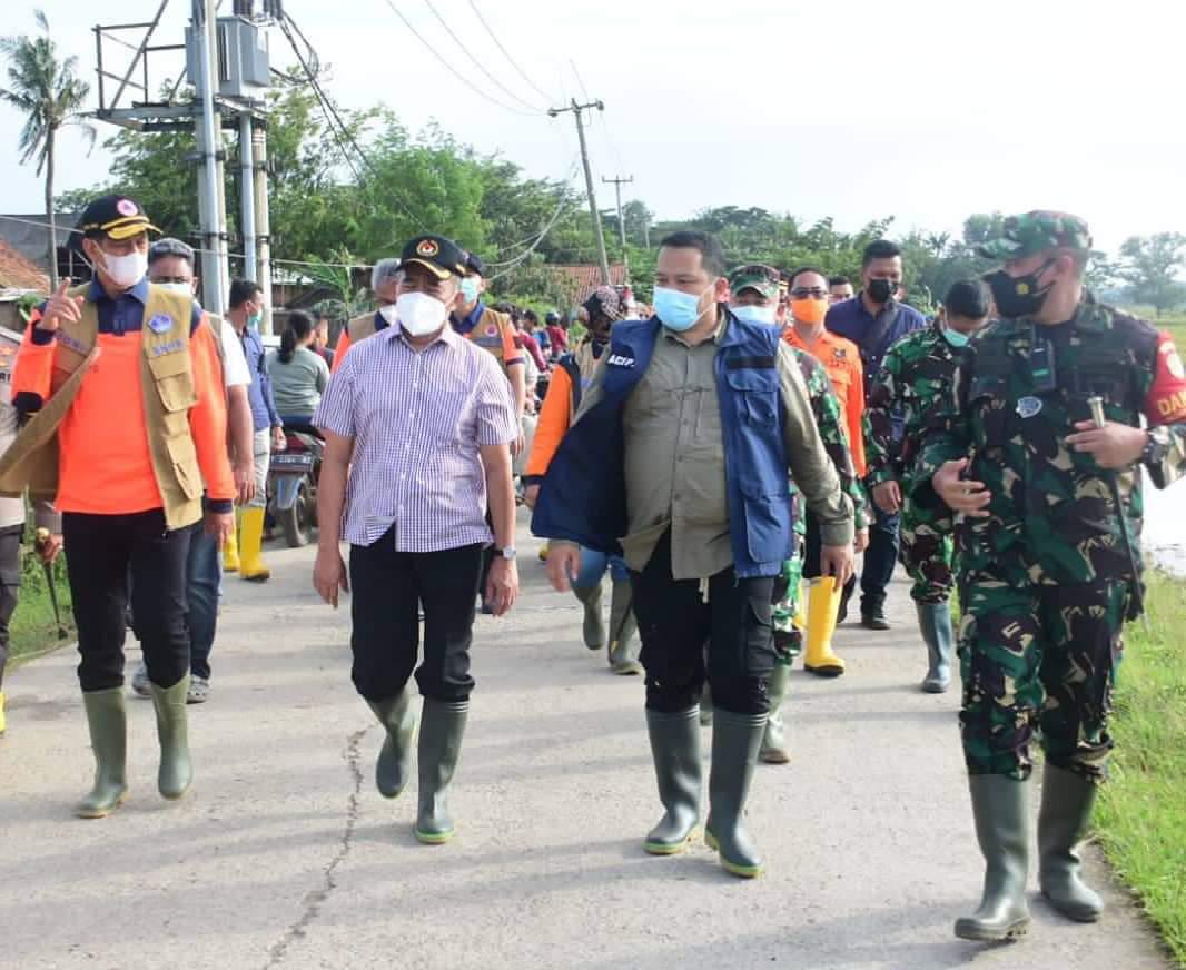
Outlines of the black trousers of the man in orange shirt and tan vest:
M171 688L189 672L185 563L190 535L190 529L168 531L160 509L117 516L62 516L83 691L123 685L129 576L132 612L148 679L157 687Z

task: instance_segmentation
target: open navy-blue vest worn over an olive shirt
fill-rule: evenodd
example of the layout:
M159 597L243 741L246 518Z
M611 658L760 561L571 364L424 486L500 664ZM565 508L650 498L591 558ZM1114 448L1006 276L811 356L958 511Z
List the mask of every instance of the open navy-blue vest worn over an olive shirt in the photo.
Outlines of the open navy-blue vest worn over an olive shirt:
M626 535L621 415L650 366L658 318L616 324L602 377L602 397L560 442L536 502L531 531L602 553L620 553ZM773 576L793 545L789 471L776 327L729 314L716 351L725 480L733 567L741 579Z

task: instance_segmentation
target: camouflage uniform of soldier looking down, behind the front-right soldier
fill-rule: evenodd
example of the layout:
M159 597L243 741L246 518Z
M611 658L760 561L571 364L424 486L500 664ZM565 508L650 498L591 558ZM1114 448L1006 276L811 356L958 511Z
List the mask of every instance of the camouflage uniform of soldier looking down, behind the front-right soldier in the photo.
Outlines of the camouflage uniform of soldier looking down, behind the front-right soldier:
M933 510L918 508L911 489L926 413L949 394L957 360L958 351L938 323L903 337L890 347L869 384L865 411L866 484L871 490L885 481L901 485L898 557L914 583L910 595L920 604L945 602L952 586L951 534L938 528ZM899 416L904 428L900 445L893 434Z

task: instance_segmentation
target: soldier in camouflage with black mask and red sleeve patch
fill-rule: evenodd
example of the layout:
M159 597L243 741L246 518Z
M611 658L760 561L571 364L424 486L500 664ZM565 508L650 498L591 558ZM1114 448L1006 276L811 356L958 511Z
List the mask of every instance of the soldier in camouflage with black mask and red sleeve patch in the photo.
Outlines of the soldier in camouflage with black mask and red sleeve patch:
M1126 547L1140 535L1141 471L1166 487L1186 467L1186 371L1168 334L1085 291L1082 219L1009 218L982 254L1005 263L989 277L1001 319L964 351L912 497L937 519L944 505L962 516L959 719L986 875L955 930L1001 940L1029 925L1035 728L1039 885L1071 919L1103 910L1077 845L1112 746L1121 627L1139 612L1140 550Z

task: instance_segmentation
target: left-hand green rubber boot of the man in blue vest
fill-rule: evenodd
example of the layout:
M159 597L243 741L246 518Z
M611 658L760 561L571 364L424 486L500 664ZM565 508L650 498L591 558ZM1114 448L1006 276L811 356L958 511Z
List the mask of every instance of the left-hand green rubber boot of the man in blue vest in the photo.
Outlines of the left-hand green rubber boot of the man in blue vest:
M646 835L651 855L683 851L700 821L700 727L696 708L646 711L646 733L658 781L663 818Z

